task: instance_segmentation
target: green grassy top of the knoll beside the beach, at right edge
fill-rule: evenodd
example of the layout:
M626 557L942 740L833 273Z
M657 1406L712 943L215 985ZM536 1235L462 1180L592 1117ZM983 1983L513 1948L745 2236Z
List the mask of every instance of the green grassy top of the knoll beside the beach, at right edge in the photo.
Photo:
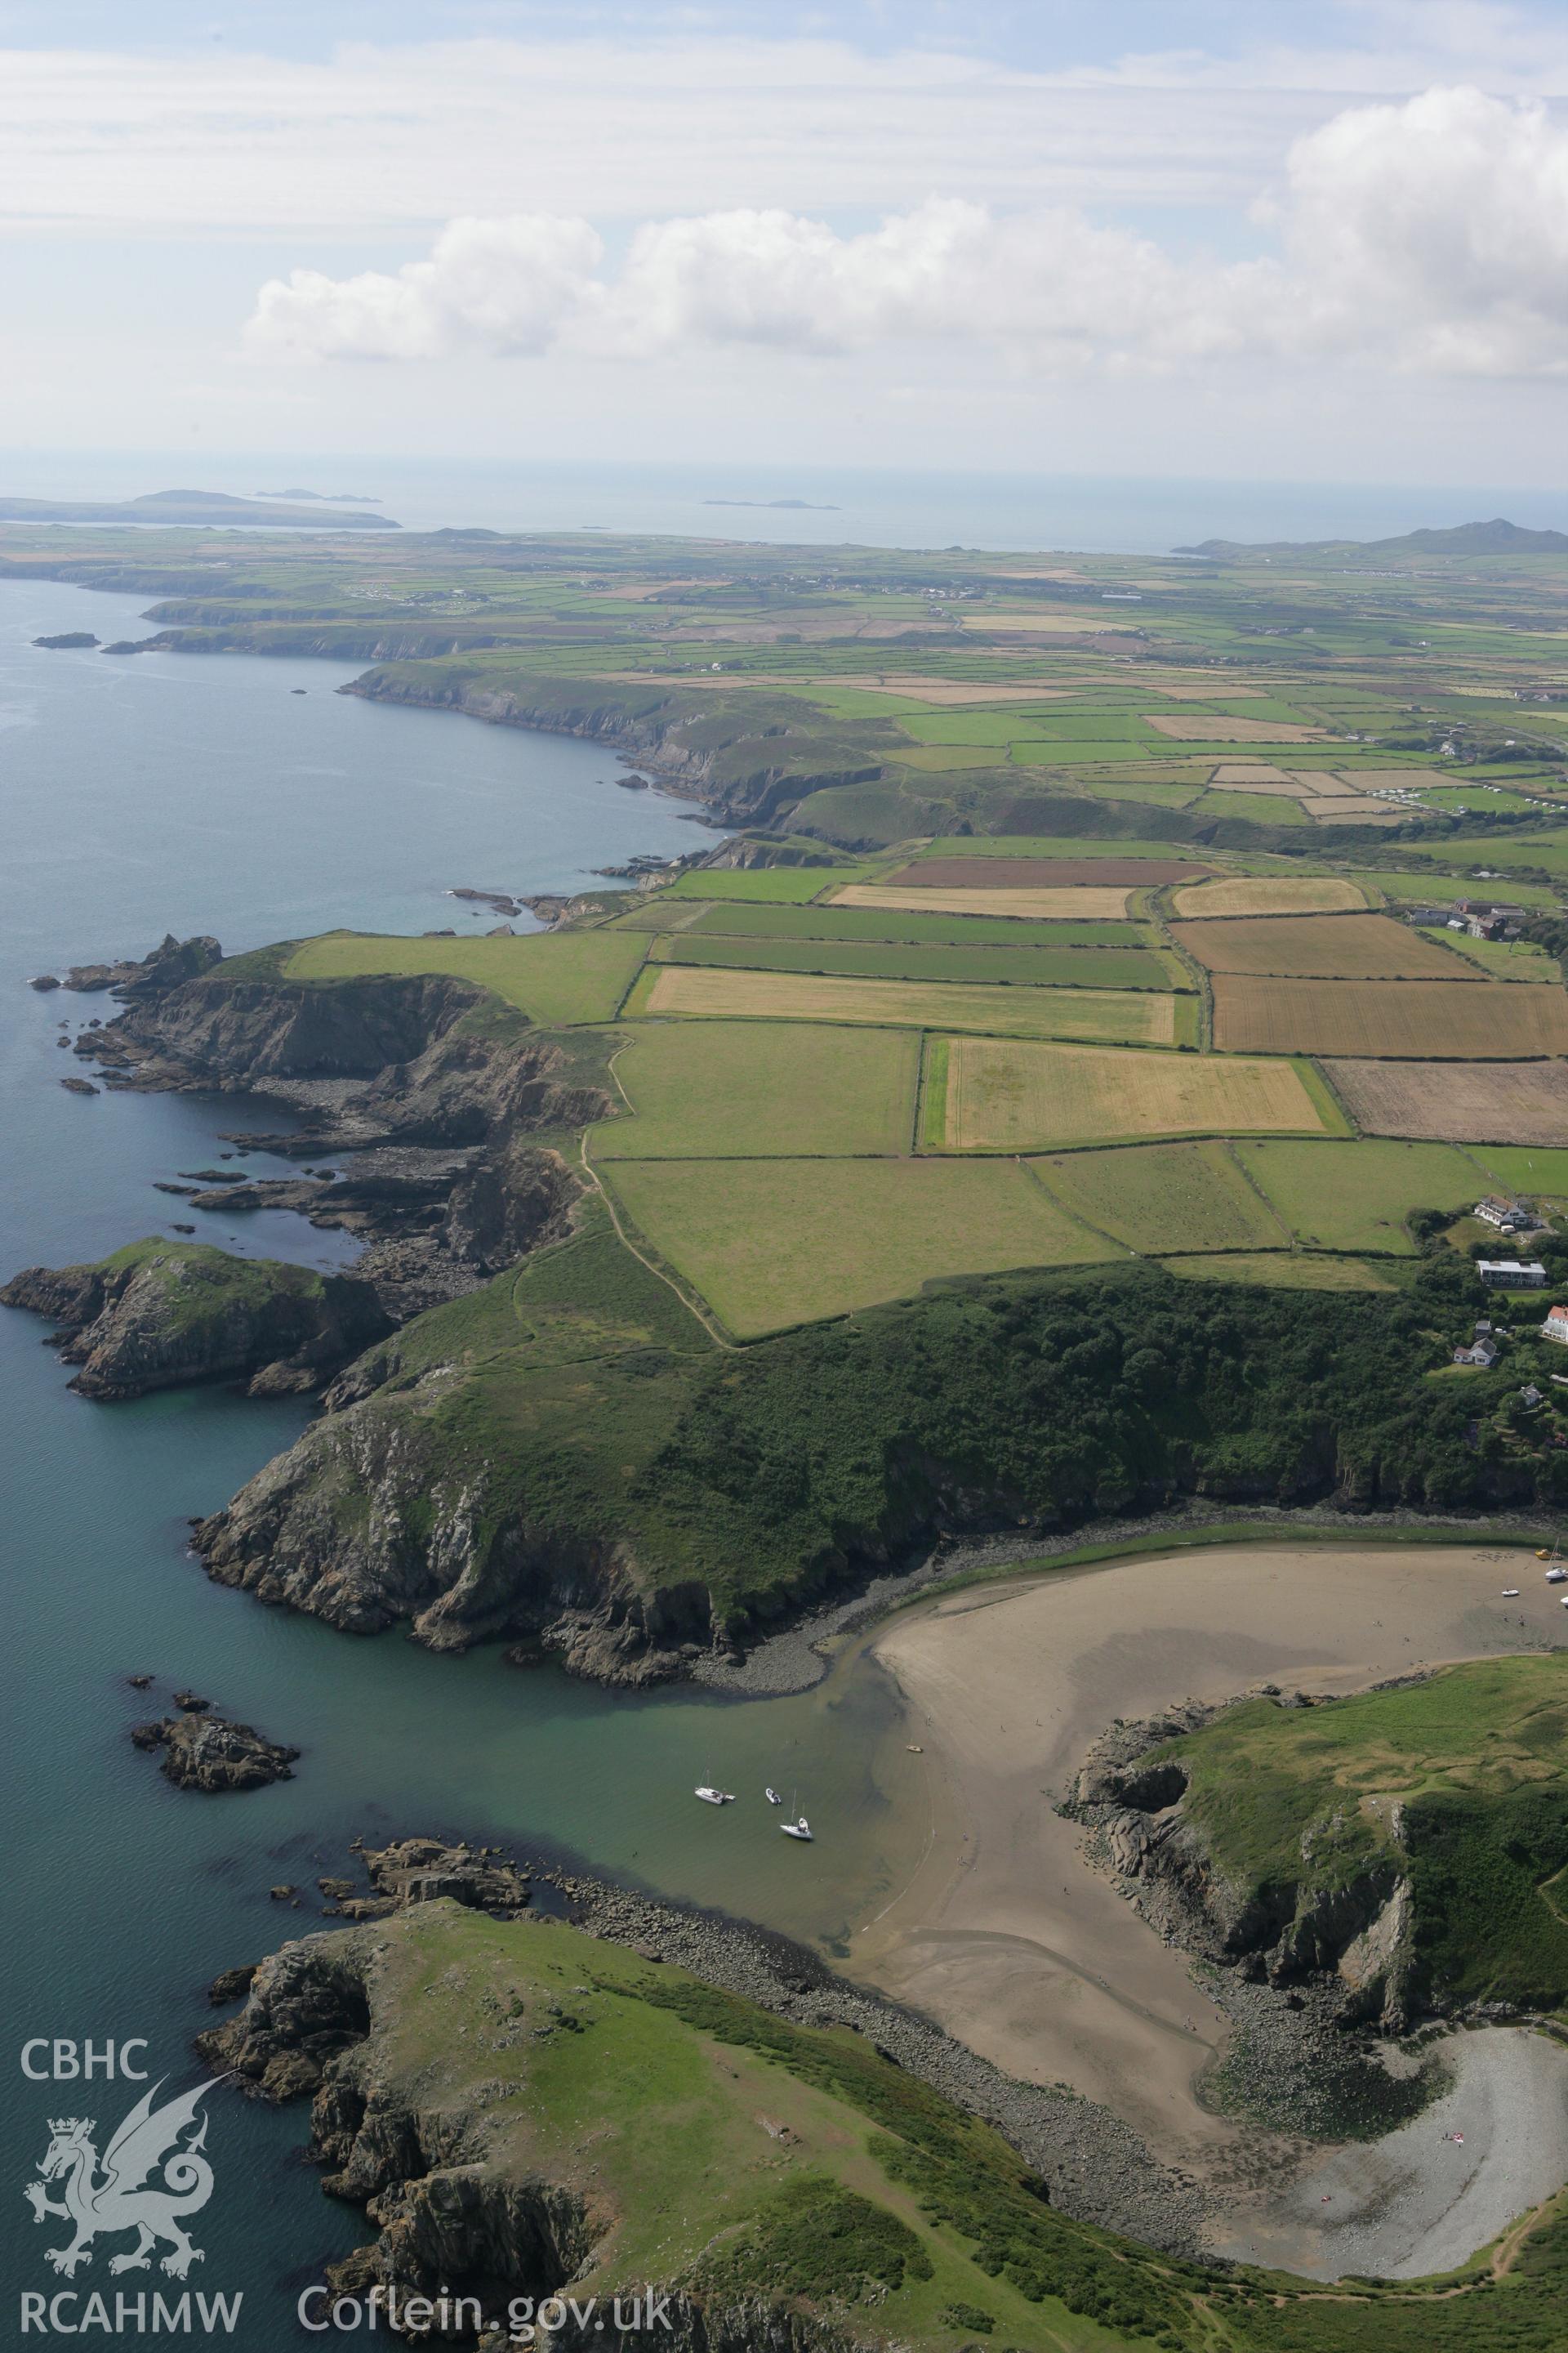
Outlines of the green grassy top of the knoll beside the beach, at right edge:
M1568 2005L1568 1654L1481 1659L1316 1708L1244 1701L1166 1744L1185 1814L1246 1889L1408 1864L1429 1993ZM1394 1828L1401 1809L1401 1831Z

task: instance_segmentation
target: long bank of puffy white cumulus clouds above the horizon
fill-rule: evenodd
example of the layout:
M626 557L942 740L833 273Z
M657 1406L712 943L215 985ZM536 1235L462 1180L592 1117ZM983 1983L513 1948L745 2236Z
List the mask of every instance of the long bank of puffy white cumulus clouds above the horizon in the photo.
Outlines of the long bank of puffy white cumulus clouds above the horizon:
M1540 106L1434 89L1349 108L1293 146L1272 214L1279 259L1218 266L1074 207L931 198L860 233L726 209L646 221L614 273L585 221L468 219L395 278L268 282L247 341L317 360L954 344L1048 372L1225 353L1568 367L1568 132Z

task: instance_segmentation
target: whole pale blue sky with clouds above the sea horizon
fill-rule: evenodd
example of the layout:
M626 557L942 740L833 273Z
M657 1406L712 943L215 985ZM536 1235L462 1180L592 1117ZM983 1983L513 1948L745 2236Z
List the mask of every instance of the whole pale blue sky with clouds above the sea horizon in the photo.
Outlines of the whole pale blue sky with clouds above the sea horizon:
M0 0L0 52L7 440L1561 475L1561 0Z

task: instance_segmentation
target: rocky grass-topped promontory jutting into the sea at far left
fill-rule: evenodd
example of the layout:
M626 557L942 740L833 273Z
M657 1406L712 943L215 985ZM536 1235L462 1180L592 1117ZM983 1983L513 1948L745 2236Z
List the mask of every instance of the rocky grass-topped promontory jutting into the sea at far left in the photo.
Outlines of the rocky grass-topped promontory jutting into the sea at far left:
M132 1245L96 1266L28 1266L0 1301L63 1327L85 1398L249 1379L256 1395L320 1388L390 1320L369 1282L188 1242Z

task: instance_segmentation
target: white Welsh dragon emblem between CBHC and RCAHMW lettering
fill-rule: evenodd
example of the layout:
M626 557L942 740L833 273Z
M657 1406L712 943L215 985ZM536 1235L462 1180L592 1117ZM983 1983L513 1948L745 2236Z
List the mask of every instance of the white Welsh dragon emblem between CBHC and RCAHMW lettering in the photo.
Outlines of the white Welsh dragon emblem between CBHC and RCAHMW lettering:
M56 2214L75 2224L68 2247L45 2249L45 2259L68 2280L75 2278L78 2264L92 2264L92 2240L118 2231L134 2231L136 2245L129 2254L115 2254L110 2271L148 2271L160 2240L172 2249L162 2257L162 2271L176 2280L202 2261L202 2249L190 2245L181 2221L212 2198L212 2165L202 2155L207 2118L202 2115L200 2129L183 2146L179 2137L195 2122L212 2082L200 2082L195 2092L153 2108L160 2087L162 2078L141 2094L103 2151L101 2165L94 2148L96 2122L89 2115L49 2118L40 2179L28 2181L21 2195L33 2207L33 2221ZM162 2179L148 2181L150 2174ZM47 2181L61 2181L63 2198L49 2198Z

